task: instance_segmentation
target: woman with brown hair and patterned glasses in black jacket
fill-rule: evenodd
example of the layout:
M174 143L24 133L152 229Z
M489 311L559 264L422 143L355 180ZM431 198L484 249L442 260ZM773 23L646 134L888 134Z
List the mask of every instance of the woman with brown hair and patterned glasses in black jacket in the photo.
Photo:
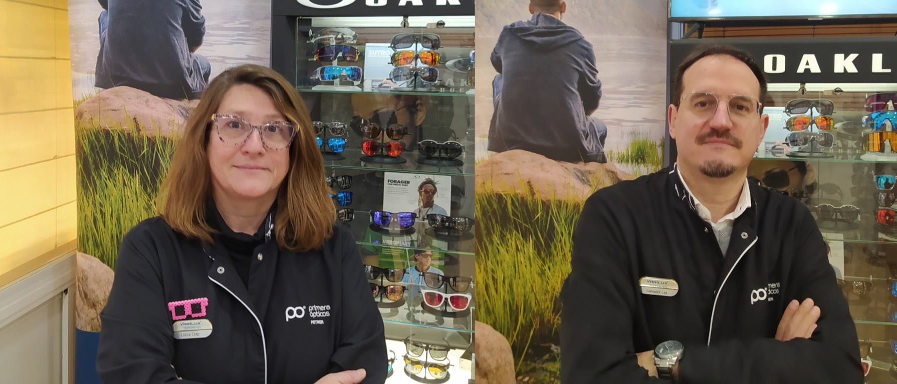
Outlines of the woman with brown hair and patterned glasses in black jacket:
M109 383L382 383L380 319L335 226L308 111L280 74L209 84L171 162L161 217L129 231L101 314Z

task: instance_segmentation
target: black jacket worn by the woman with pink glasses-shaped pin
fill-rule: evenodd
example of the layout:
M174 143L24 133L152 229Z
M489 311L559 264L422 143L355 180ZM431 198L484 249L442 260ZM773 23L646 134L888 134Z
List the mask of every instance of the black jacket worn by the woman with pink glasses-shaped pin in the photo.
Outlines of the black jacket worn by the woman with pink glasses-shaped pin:
M364 383L386 380L383 320L348 229L337 225L324 249L298 253L279 251L268 233L247 289L222 241L188 240L160 217L137 224L122 240L101 313L100 379L310 384L364 368ZM176 339L173 318L184 315L177 301L203 298L205 315L194 304L198 315L186 320L208 319L211 335ZM172 314L169 303L180 309Z

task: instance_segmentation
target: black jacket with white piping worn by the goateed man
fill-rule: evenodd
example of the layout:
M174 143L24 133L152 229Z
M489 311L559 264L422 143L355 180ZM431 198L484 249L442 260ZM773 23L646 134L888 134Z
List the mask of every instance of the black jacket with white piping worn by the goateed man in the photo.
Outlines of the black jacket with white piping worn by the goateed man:
M675 170L602 188L573 233L562 288L564 384L663 382L634 353L685 346L683 383L862 383L857 331L822 234L797 199L751 183L725 257ZM642 276L675 279L673 297ZM762 300L765 298L765 300ZM822 310L811 338L773 337L788 301Z

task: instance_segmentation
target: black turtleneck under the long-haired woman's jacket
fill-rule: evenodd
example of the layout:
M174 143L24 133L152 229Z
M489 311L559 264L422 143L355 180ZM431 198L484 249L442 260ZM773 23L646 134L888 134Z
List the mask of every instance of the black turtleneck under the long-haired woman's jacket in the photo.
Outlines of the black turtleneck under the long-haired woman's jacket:
M239 275L240 280L243 281L243 284L247 287L249 286L249 268L252 266L252 256L255 253L255 249L265 243L265 223L266 220L263 220L262 223L258 226L258 230L255 234L248 233L240 233L231 230L231 227L224 221L221 213L218 212L218 207L215 206L215 203L212 199L206 203L208 205L208 213L209 213L209 225L216 231L218 234L214 236L216 241L221 241L224 249L227 249L228 256L231 257L231 262L233 263L234 268L237 269L237 275ZM271 206L271 210L269 213L274 210L274 206Z

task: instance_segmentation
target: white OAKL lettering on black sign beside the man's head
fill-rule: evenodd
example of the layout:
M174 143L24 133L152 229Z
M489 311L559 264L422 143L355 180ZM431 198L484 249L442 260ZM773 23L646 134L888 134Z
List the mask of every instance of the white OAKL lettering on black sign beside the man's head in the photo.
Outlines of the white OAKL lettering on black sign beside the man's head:
M891 73L890 65L884 63L884 54L874 53L871 55L871 62L867 63L868 67L857 66L854 63L859 57L857 53L839 53L833 57L816 57L814 54L806 54L800 57L800 63L797 65L797 74L821 74L823 68L827 73L833 74L857 74L860 70L866 72L870 70L873 74L889 74ZM865 59L865 57L863 58ZM794 57L791 58L794 60ZM861 59L862 60L862 59ZM865 61L864 61L865 62ZM763 72L767 74L783 74L785 73L788 58L785 55L770 54L763 56Z

